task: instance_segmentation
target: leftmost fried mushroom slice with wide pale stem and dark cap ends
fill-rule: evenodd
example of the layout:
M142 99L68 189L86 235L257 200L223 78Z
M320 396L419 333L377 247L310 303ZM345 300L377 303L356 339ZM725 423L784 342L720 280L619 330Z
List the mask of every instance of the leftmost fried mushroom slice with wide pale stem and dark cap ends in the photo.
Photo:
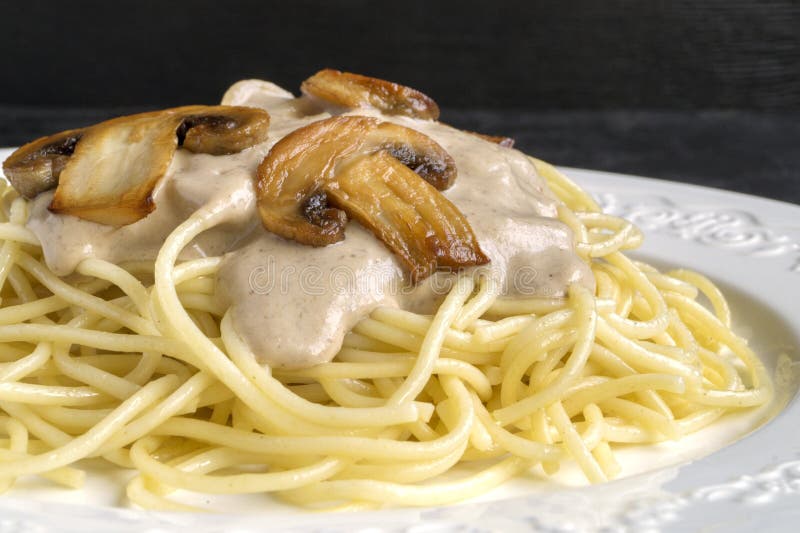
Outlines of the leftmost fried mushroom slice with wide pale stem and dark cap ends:
M55 213L120 226L155 209L153 189L178 146L230 154L265 141L268 129L261 109L177 107L39 139L14 152L3 170L27 198L56 187Z

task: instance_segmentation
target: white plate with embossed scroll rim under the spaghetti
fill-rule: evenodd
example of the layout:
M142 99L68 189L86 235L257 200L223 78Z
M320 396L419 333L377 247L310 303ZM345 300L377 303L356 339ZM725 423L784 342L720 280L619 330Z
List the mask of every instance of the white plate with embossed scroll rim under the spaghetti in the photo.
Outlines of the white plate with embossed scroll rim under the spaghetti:
M0 150L0 160L8 151ZM220 515L153 513L124 502L119 472L90 469L87 487L25 483L0 497L0 533L19 531L795 531L800 523L800 206L704 187L567 169L608 212L645 231L636 257L703 272L729 297L735 328L778 375L773 411L729 417L680 445L623 450L628 477L601 486L516 480L460 505L311 514L260 496L203 497ZM788 405L787 405L788 404ZM727 445L732 441L733 444ZM726 446L727 445L727 446ZM721 449L720 449L721 448ZM715 451L717 450L717 451ZM705 455L705 456L704 456ZM122 503L124 504L124 503ZM238 506L238 507L236 507Z

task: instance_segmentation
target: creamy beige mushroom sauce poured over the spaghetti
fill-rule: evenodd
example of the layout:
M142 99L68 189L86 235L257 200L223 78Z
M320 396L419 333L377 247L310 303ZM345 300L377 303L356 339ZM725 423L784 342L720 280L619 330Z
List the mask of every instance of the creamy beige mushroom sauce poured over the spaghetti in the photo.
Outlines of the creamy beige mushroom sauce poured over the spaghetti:
M287 133L329 116L306 99L267 82L242 82L224 101L262 107L271 115L270 140L239 154L211 156L178 150L154 193L156 209L120 228L47 210L52 191L34 201L28 227L58 275L96 257L121 263L155 260L164 240L203 205L222 204L224 224L204 233L181 258L225 254L217 274L220 303L257 360L276 368L330 361L344 335L379 305L435 311L454 276L437 273L416 287L369 231L351 221L343 242L304 246L261 226L255 170ZM458 178L445 195L466 215L491 263L472 269L489 275L508 296L560 296L570 283L593 288L587 265L574 252L570 230L553 217L558 201L527 156L438 122L384 117L436 140L456 162Z

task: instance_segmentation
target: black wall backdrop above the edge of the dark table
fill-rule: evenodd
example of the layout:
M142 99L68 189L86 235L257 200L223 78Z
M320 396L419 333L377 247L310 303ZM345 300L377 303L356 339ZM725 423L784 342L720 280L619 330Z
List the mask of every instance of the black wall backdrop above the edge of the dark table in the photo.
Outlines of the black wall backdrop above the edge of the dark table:
M445 107L800 108L790 0L7 3L0 104L207 103L330 66Z

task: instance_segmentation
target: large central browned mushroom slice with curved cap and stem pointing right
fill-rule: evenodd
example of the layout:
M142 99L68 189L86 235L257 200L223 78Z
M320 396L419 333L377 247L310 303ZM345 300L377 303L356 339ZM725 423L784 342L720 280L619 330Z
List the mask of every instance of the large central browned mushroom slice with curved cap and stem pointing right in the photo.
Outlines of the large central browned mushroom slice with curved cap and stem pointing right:
M466 217L439 191L455 181L450 155L426 135L363 116L337 116L290 133L257 171L264 227L325 246L348 216L405 264L413 281L437 268L485 264Z

